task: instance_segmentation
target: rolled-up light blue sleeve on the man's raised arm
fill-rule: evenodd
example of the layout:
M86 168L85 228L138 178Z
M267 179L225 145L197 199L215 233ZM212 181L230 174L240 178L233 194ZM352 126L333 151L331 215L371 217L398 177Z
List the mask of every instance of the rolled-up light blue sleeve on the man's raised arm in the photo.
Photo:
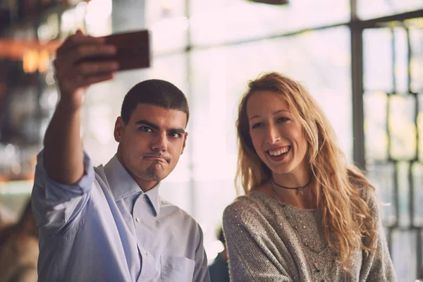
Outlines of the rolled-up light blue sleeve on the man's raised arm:
M32 188L32 211L41 235L63 234L81 218L94 183L94 167L84 152L84 176L74 185L63 185L49 176L44 168L44 150L37 156Z

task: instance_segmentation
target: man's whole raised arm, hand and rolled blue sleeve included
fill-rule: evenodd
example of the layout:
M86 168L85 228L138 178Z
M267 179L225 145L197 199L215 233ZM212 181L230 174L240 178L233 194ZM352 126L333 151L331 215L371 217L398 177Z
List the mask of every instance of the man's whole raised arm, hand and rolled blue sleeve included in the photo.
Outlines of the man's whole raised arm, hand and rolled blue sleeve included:
M58 49L54 66L60 100L44 137L44 150L37 156L32 210L42 235L73 230L90 198L94 168L83 154L80 109L89 85L113 77L114 62L81 63L89 56L116 52L103 39L78 31Z

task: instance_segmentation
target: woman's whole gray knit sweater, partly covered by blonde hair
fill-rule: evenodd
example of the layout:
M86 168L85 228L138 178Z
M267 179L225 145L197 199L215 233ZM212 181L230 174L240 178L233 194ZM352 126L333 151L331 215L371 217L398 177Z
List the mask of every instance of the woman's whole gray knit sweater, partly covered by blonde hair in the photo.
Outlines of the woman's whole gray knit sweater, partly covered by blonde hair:
M327 247L319 209L298 209L250 192L223 213L231 281L396 281L380 221L378 226L376 252L357 252L346 275Z

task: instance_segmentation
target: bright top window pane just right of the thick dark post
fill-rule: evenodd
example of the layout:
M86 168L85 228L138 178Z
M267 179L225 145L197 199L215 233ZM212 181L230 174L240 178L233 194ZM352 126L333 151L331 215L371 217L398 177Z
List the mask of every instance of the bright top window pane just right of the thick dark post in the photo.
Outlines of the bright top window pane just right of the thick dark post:
M363 63L364 90L393 92L391 30L364 30Z

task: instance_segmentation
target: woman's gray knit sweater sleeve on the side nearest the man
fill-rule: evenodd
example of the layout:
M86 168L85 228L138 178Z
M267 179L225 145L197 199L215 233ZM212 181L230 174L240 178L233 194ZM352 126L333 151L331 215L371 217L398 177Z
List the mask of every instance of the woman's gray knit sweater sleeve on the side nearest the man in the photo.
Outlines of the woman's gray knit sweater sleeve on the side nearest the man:
M259 217L245 203L235 202L223 212L223 231L228 248L231 282L260 281L288 282L283 258L266 240L266 231L260 228Z

